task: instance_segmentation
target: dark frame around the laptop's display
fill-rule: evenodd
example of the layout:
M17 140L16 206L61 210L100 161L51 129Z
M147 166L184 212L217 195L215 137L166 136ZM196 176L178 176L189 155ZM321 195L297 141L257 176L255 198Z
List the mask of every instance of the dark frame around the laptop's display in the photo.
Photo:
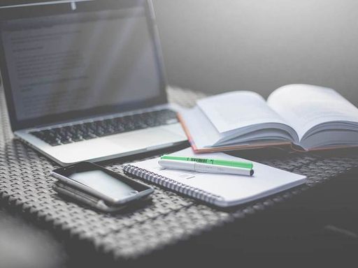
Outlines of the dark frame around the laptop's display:
M129 110L137 110L154 105L161 105L167 103L166 96L166 75L164 71L164 61L162 56L161 45L155 24L155 14L152 8L151 0L77 0L77 1L42 1L36 4L24 4L24 1L12 1L11 6L0 7L0 22L1 20L20 19L25 17L42 17L48 15L60 15L66 13L86 13L100 10L113 10L130 6L143 6L145 9L145 17L147 19L150 37L152 38L155 47L155 57L157 64L157 73L159 80L159 95L155 98L150 98L145 101L138 101L126 103L124 105L106 105L95 107L87 110L76 110L71 112L64 112L61 114L51 114L34 119L18 120L15 111L15 102L10 84L10 77L8 75L8 68L6 65L5 52L3 42L0 34L0 70L3 81L3 90L6 96L6 104L8 106L8 114L10 118L10 126L13 131L18 131L26 128L34 128L46 126L50 124L59 124L64 121L74 121L79 119L86 119L106 114L115 114L119 112L126 112ZM71 8L71 3L76 2L76 10ZM140 3L138 3L140 2ZM0 29L1 30L1 29Z

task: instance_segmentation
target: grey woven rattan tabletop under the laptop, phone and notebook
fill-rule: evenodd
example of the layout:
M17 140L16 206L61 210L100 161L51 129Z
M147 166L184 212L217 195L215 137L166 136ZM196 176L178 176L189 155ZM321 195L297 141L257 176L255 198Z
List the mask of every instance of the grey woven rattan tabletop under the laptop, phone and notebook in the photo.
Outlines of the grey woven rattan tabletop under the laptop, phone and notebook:
M192 105L201 96L203 94L182 89L169 90L169 100L185 106ZM138 258L215 226L239 221L247 214L257 213L302 191L296 189L224 212L154 186L152 203L145 207L115 216L101 214L55 195L51 188L54 179L49 174L58 167L57 164L13 138L2 92L0 103L1 199L59 232L69 234L72 239L87 240L98 251L109 253L116 259ZM306 174L308 186L313 186L357 166L358 156L292 154L274 159L260 158L259 161ZM122 172L121 164L115 161L106 166Z

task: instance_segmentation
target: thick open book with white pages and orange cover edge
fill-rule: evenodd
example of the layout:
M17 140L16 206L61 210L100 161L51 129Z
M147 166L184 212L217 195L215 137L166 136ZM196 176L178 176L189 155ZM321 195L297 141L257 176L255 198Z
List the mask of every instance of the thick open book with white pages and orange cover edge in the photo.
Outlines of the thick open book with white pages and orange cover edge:
M303 150L358 146L358 109L334 89L289 84L265 101L233 91L179 114L196 152L295 144Z

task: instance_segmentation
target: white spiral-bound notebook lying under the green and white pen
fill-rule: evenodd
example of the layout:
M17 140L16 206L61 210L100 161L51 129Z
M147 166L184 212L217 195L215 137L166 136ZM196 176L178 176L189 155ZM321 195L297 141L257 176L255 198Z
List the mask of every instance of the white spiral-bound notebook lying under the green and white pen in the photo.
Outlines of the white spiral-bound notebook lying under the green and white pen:
M191 148L173 153L176 156L198 156ZM223 153L201 154L203 158L219 158L247 161ZM208 202L217 207L231 207L251 202L294 186L304 184L306 177L285 170L254 163L252 177L164 169L158 164L159 158L124 165L124 172L141 179L159 184L164 188L182 193L191 198Z

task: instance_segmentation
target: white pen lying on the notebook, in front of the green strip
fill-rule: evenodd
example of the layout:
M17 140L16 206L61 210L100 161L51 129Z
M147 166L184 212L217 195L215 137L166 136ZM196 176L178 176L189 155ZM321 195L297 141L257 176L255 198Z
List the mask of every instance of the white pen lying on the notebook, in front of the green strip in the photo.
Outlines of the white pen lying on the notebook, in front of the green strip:
M159 159L158 164L163 168L170 168L173 170L193 170L198 172L225 173L245 176L252 176L254 174L254 170L249 168L235 168L225 165L203 164L194 161Z

